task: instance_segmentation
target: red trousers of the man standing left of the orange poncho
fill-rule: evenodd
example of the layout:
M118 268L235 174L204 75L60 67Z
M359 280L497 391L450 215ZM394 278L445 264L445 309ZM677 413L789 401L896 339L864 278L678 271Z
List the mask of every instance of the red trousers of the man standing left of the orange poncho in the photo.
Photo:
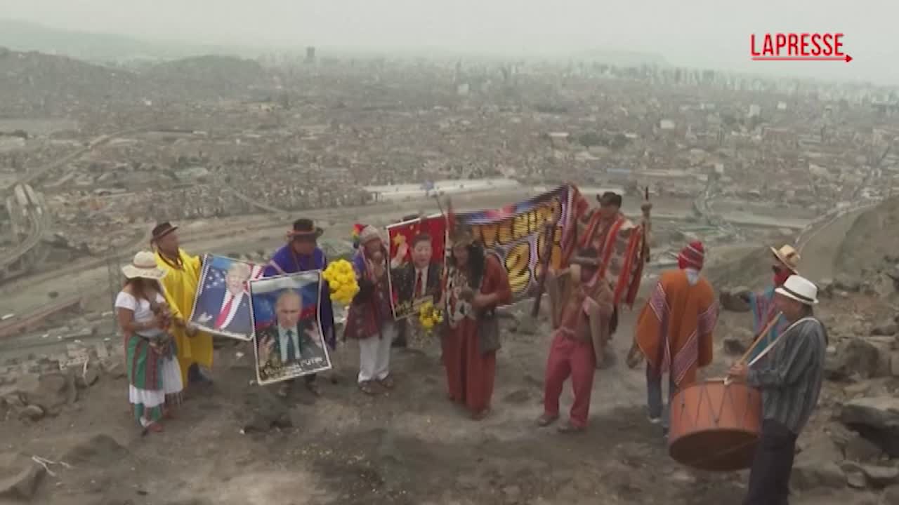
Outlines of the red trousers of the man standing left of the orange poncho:
M571 376L574 404L571 406L571 423L583 428L590 415L590 395L593 392L593 372L596 356L589 341L574 340L562 332L556 332L549 348L547 378L543 391L543 410L547 415L559 415L559 396L565 379Z

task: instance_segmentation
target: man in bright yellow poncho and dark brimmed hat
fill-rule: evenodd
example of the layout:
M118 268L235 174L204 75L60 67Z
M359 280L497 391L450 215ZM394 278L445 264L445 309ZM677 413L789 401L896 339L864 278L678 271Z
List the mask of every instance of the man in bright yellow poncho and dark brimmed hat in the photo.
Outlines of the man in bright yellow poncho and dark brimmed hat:
M165 221L151 232L150 245L156 251L156 265L165 271L160 281L165 299L172 309L174 340L178 349L184 384L210 383L200 367L212 368L212 335L188 325L193 311L193 299L200 285L202 261L181 248L178 226Z

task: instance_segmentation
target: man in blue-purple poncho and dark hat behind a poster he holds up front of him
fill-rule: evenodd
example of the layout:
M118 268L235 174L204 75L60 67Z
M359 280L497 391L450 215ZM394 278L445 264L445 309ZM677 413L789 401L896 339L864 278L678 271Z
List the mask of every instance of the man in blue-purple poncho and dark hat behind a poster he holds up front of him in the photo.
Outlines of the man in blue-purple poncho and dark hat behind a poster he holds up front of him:
M287 244L280 247L271 256L271 261L263 271L263 277L307 270L325 270L328 267L328 259L325 252L318 247L318 237L324 233L325 230L316 226L312 219L300 217L294 221L292 228L287 233ZM334 337L334 306L331 304L331 291L327 282L322 282L319 286L321 297L319 298L318 315L322 323L322 334L325 336L325 343L331 350L334 350L337 340ZM332 377L332 382L334 382L334 377ZM321 395L321 390L316 384L316 374L304 376L303 380L309 392L316 396ZM281 396L288 394L291 382L288 381L281 385L279 390Z

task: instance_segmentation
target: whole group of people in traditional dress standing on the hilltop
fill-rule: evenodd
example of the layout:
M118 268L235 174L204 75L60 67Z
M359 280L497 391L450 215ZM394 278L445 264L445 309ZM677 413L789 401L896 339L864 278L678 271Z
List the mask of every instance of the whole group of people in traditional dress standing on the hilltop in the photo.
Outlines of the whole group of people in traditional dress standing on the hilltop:
M570 377L574 404L569 419L559 426L565 433L587 426L595 370L608 359L607 344L618 326L619 306L632 306L636 300L651 245L648 201L642 206L642 222L635 224L621 213L619 194L607 192L597 200L599 207L578 222L576 251L569 266L539 274L549 298L553 333L544 412L538 423L547 426L558 420L559 397ZM211 335L192 328L185 316L190 315L200 280L200 258L180 248L176 229L169 223L153 229L155 252L138 253L122 268L128 280L115 304L125 334L129 399L146 430L161 430L160 421L171 415L183 387L208 383L206 370L212 365ZM263 277L325 270L328 259L317 245L322 234L312 220L298 219ZM473 419L480 420L490 412L500 348L496 308L510 303L512 289L503 265L470 230L451 226L447 236L447 270L440 276L430 275L423 273L427 271L423 264L410 269L410 275L424 275L422 282L444 310L441 360L449 400L464 405ZM417 245L413 241L413 249ZM744 501L747 505L786 502L797 435L817 401L827 345L826 331L812 310L817 290L798 274L799 254L789 245L771 248L771 253L770 288L741 295L752 307L755 333L763 328L769 331L758 335L761 341L748 364L741 361L729 370L729 377L761 389L763 395L761 440ZM427 259L424 252L418 255L423 259L418 262L430 260L430 254ZM678 268L661 274L638 316L628 352L632 368L645 360L648 418L662 425L663 434L670 423L668 403L697 382L698 369L713 358L718 306L701 272L704 260L703 244L691 242L678 255ZM361 230L352 265L360 289L349 306L344 337L359 342L360 391L375 394L377 387L395 386L391 347L409 331L404 320L395 320L391 309L387 272L396 269L396 259L390 258L376 227ZM434 279L441 281L435 284ZM334 307L327 284L322 283L321 289L322 332L334 350ZM665 376L668 402L663 401ZM315 375L303 377L303 382L313 394L320 394ZM280 394L287 394L289 386L290 382L282 383Z

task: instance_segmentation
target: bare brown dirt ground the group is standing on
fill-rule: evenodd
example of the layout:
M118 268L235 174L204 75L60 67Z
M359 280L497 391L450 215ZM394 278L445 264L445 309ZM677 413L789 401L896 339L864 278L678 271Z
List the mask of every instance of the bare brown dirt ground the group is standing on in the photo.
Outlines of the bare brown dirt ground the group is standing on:
M833 233L840 231L838 226ZM804 254L829 251L824 245L835 240L840 238L830 231L815 235ZM832 265L832 258L822 261ZM320 398L298 386L286 400L271 386L252 384L252 351L227 341L217 353L214 385L191 391L163 433L141 437L129 414L127 380L104 374L58 417L0 422L0 447L71 465L50 465L54 474L44 478L32 500L39 504L717 505L740 500L745 472L708 474L677 464L667 456L658 427L646 421L644 374L623 363L635 317L636 311L622 315L613 341L618 359L597 372L591 425L583 434L535 426L549 333L546 323L535 332L523 331L533 327L526 324L512 331L510 320L498 356L494 411L485 421L471 421L446 400L433 341L423 350L395 350L394 391L369 397L356 389L358 349L351 342L336 353L337 384L323 376ZM746 315L724 317L718 339L726 328L748 324ZM727 362L717 351L706 377L719 377ZM570 404L566 385L563 413ZM289 422L280 419L285 416ZM280 428L269 429L272 420ZM812 495L793 501L811 502L848 501Z

